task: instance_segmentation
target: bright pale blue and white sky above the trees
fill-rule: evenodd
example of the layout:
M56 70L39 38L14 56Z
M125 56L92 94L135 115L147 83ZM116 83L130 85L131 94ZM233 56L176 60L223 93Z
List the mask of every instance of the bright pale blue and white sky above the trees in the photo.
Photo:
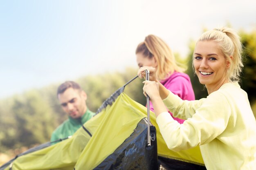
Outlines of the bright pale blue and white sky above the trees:
M0 99L137 67L149 34L186 57L203 29L256 29L255 0L0 0Z

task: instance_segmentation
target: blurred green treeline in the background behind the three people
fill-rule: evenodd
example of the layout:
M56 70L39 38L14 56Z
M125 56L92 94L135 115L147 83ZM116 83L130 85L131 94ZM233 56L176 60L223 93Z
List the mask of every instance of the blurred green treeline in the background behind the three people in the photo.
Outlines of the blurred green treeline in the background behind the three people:
M247 33L240 31L245 46L245 68L242 75L242 88L247 91L249 101L256 113L256 30ZM206 97L198 78L194 76L191 62L195 41L191 40L190 53L186 58L176 58L187 67L186 73L191 82L196 99ZM175 49L175 47L171 47ZM123 73L103 73L87 75L74 81L78 82L88 95L88 108L94 112L102 102L119 87L137 75L137 68L126 68ZM140 104L146 104L142 93L142 80L137 78L125 88L125 93ZM61 84L62 82L59 82ZM0 152L22 146L32 147L49 141L52 131L61 124L67 115L61 109L56 98L59 84L41 89L31 89L20 95L0 100ZM246 114L246 113L245 113Z

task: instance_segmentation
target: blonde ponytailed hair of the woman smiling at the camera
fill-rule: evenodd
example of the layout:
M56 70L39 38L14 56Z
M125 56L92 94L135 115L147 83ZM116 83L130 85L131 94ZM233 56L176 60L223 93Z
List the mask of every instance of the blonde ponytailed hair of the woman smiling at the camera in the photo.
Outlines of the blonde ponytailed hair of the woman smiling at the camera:
M243 46L240 37L233 29L222 27L203 33L197 42L213 40L218 43L220 50L229 61L230 66L226 72L226 78L229 82L240 81L240 73L243 70ZM194 51L195 53L195 51ZM233 57L229 57L232 55Z

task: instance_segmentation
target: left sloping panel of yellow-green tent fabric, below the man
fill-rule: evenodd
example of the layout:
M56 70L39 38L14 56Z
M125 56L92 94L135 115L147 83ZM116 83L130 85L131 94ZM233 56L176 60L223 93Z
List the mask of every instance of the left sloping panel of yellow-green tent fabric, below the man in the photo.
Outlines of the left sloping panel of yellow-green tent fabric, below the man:
M84 124L93 134L105 115L98 114ZM72 170L91 136L82 127L70 139L22 155L12 162L12 170ZM4 170L9 170L9 166Z

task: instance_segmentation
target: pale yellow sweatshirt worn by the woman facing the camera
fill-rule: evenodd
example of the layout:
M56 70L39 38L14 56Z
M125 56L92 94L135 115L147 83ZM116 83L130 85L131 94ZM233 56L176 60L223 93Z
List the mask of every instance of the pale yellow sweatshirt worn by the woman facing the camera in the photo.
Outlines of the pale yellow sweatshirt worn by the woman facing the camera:
M207 170L256 170L256 121L247 93L238 83L227 83L207 98L186 101L170 92L163 100L168 112L157 117L169 149L200 145Z

